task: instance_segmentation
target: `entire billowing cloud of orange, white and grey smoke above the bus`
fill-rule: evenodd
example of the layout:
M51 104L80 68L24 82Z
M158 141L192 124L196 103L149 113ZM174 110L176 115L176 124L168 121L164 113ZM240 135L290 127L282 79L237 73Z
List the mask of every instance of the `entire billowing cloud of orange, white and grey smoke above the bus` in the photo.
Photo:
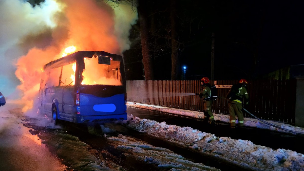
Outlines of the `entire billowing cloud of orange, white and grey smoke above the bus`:
M131 7L112 8L95 0L45 0L33 7L22 0L1 0L0 91L8 100L20 92L18 102L28 111L37 99L41 68L60 58L66 47L122 54L130 47L129 30L137 20Z

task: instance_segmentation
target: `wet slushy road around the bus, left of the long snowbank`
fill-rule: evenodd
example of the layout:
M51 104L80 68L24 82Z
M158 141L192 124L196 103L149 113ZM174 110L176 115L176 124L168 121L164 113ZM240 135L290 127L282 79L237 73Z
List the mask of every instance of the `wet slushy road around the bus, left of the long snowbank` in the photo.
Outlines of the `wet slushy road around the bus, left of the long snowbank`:
M96 135L25 116L16 106L5 105L0 112L0 152L5 154L0 170L219 170L109 128Z

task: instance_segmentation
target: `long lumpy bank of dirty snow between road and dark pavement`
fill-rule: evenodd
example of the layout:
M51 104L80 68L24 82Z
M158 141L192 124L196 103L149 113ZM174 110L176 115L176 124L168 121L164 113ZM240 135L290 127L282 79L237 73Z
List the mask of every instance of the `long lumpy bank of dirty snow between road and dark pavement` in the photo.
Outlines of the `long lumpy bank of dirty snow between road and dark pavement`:
M139 132L183 145L206 156L216 157L245 169L301 170L304 168L304 155L291 150L273 150L255 145L248 140L216 137L191 127L167 125L165 122L140 119L132 115L125 124Z

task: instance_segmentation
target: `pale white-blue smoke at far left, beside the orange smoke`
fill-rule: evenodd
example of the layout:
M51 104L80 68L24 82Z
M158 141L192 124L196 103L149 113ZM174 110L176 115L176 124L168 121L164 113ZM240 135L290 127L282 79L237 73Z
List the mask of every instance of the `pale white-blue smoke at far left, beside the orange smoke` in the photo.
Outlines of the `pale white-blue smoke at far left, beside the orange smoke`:
M33 32L54 28L56 25L51 20L51 14L59 11L54 1L46 1L35 8L19 0L0 1L0 91L8 100L18 97L15 89L20 82L14 75L14 63L25 54L18 46L20 40Z

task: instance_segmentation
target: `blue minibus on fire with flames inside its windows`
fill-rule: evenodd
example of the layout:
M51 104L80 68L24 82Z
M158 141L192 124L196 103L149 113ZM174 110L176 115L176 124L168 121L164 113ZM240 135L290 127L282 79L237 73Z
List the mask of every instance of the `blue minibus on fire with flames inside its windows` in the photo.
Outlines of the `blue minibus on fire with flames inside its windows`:
M78 51L45 64L39 110L55 124L60 120L88 124L126 120L122 56Z

